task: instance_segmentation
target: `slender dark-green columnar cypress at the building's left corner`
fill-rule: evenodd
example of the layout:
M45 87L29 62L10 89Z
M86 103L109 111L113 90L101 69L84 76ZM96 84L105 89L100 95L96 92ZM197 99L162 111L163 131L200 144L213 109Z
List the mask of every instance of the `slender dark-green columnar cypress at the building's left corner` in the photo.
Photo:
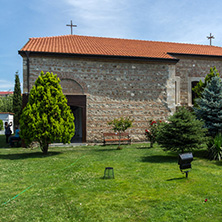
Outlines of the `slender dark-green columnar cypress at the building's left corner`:
M15 86L14 86L14 94L13 94L13 112L14 112L14 123L15 125L19 125L20 115L22 113L22 95L21 95L21 87L19 81L18 72L15 74Z

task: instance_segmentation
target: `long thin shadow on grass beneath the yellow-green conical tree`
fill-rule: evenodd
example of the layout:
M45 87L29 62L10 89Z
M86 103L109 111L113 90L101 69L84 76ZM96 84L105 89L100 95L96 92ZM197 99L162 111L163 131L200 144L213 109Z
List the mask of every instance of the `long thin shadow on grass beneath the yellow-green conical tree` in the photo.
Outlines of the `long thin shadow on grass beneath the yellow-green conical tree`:
M59 154L61 154L61 152L48 152L48 154L43 154L42 152L15 153L15 154L5 154L5 155L1 154L0 159L19 160L19 159L28 159L28 158L47 158Z

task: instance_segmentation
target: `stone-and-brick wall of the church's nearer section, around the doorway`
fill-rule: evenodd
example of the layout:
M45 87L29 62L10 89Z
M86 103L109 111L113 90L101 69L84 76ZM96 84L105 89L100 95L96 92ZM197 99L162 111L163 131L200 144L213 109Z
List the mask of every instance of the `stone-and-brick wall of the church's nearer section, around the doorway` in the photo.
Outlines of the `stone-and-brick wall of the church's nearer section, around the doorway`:
M26 71L24 58L23 92ZM111 130L107 122L120 116L134 119L128 129L132 140L144 140L150 119L166 119L175 111L172 64L32 56L30 89L41 71L57 74L64 93L87 96L88 142L101 142L102 133Z

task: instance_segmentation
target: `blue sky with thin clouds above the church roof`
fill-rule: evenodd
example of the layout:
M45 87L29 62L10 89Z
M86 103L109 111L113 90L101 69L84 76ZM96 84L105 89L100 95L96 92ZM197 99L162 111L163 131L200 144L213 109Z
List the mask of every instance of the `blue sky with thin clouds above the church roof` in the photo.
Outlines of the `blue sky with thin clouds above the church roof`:
M220 0L0 0L0 91L22 84L30 37L74 34L222 46Z

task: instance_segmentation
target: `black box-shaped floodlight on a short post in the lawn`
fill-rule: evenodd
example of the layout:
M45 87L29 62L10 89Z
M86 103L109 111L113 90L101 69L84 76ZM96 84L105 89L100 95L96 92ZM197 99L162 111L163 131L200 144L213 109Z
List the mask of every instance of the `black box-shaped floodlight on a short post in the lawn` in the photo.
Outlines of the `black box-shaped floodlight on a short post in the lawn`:
M180 171L182 173L186 173L186 178L188 177L188 173L191 170L191 162L193 161L192 153L182 153L179 154L178 164L180 165Z

